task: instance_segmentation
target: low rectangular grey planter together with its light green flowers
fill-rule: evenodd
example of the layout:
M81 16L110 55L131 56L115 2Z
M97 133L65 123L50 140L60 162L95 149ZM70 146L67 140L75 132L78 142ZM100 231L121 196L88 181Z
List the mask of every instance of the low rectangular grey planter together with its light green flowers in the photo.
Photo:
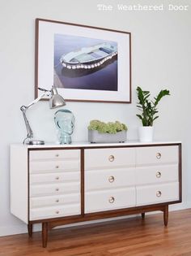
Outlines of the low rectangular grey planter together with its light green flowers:
M87 129L88 141L91 143L126 141L127 126L119 121L104 123L100 120L91 120Z

